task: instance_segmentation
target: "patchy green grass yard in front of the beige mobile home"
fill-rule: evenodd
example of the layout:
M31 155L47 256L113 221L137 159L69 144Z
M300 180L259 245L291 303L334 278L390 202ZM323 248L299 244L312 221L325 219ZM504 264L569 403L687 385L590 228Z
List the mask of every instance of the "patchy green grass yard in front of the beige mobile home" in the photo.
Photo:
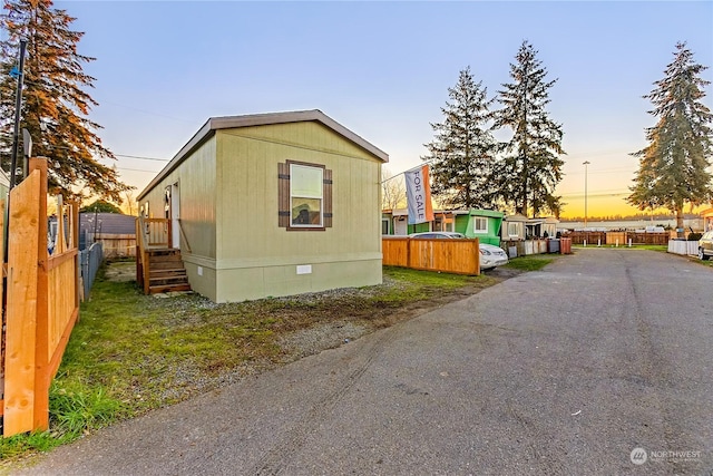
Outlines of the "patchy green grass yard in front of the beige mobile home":
M334 315L373 330L498 282L385 266L381 285L216 304L197 294L147 297L104 271L50 389L50 431L0 438L2 466L294 360L281 339Z

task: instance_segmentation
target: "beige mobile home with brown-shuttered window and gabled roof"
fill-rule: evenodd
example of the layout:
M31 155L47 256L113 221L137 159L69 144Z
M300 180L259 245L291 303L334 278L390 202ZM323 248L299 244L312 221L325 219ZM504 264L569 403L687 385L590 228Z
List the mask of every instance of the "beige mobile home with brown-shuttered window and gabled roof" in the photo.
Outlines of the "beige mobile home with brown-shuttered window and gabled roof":
M213 301L379 284L388 159L320 110L214 117L138 202Z

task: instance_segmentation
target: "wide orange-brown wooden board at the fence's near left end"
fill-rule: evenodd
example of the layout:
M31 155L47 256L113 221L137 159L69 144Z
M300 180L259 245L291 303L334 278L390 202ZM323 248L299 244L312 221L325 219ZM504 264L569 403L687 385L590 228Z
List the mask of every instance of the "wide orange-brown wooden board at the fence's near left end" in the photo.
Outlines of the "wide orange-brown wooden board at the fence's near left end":
M40 172L10 192L3 434L33 428Z

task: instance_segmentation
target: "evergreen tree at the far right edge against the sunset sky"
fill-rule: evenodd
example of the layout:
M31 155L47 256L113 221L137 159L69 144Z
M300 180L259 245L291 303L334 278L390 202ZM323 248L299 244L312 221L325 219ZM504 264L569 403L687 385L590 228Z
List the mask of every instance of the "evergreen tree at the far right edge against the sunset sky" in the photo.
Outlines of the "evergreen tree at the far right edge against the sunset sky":
M701 103L703 88L710 84L701 78L707 69L693 61L685 43L676 45L674 60L656 88L644 96L658 118L646 128L648 146L633 153L638 157L638 172L632 194L626 201L639 210L666 207L676 214L678 236L683 237L684 204L701 205L713 200L711 174L711 110Z

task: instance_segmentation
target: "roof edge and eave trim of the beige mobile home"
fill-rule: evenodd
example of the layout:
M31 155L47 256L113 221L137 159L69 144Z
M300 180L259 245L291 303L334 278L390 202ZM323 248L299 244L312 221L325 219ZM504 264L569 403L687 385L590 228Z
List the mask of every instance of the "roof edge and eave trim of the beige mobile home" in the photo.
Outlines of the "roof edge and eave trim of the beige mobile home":
M154 179L144 188L138 195L137 201L140 201L152 188L154 188L164 177L170 174L185 158L187 158L193 150L195 150L201 144L211 138L216 130L219 129L234 129L240 127L251 126L268 126L274 124L289 124L289 123L305 123L315 122L320 123L336 134L341 135L345 139L352 142L356 146L363 148L368 153L372 154L381 162L389 162L389 154L381 150L373 144L367 142L361 136L354 134L346 127L339 124L319 109L312 110L296 110L287 113L267 113L267 114L252 114L244 116L224 116L224 117L211 117L198 132L183 146L180 150L170 159L170 162L154 177Z

